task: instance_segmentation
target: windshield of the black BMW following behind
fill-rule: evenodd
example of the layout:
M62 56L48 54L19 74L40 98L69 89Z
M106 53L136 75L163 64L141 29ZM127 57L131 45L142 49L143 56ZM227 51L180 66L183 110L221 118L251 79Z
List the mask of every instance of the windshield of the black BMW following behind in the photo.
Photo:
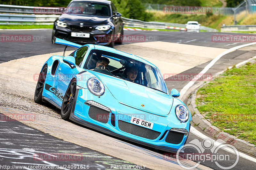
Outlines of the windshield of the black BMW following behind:
M108 4L100 4L93 2L72 2L68 5L65 12L75 14L110 16Z

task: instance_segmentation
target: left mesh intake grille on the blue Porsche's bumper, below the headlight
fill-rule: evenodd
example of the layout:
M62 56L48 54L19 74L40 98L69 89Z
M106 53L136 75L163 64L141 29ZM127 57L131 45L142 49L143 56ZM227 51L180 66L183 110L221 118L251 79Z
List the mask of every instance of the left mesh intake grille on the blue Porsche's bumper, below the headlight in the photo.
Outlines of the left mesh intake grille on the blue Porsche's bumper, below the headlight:
M106 110L90 106L88 114L94 120L97 120L104 124L108 123L109 112Z

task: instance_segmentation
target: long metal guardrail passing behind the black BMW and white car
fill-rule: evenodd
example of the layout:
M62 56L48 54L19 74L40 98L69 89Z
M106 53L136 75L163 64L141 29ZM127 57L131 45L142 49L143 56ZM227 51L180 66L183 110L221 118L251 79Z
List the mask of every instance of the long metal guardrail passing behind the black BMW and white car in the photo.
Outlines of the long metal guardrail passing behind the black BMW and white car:
M17 6L17 5L0 5L0 25L8 24L52 24L61 14L59 8ZM12 14L16 13L16 14ZM36 15L35 15L36 14ZM43 14L43 15L37 15ZM50 14L50 15L45 15ZM167 23L167 22L145 22L137 19L124 18L124 26L139 27L148 29L166 29L166 26L185 28L185 24ZM218 32L216 29L200 26L200 29L209 32Z

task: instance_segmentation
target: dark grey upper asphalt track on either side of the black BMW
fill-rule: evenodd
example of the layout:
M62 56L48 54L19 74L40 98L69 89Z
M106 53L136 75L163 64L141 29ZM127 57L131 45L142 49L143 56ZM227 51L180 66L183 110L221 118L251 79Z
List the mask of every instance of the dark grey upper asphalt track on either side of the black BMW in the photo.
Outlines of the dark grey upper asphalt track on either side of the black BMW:
M31 42L3 42L0 41L1 53L0 63L19 59L23 57L29 57L45 53L54 53L64 50L62 45L52 45L51 43L52 30L29 30L29 31L16 31L16 30L0 30L0 35L31 35L33 41ZM146 39L142 39L140 42L148 41L165 41L180 44L189 44L197 46L209 46L229 49L234 46L246 44L244 43L216 43L212 42L212 36L225 34L231 35L231 33L215 33L215 32L173 32L173 31L125 31L125 35L142 35ZM243 34L244 35L244 34ZM124 42L123 44L130 44L133 42ZM74 50L75 48L68 47L67 51Z

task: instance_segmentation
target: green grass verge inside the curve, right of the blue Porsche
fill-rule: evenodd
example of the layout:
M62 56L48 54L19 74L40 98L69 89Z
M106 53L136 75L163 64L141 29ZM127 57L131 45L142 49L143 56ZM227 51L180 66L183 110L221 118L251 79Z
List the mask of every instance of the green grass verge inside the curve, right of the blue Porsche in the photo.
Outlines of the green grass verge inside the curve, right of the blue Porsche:
M256 145L256 62L227 70L204 85L196 104L212 125Z

